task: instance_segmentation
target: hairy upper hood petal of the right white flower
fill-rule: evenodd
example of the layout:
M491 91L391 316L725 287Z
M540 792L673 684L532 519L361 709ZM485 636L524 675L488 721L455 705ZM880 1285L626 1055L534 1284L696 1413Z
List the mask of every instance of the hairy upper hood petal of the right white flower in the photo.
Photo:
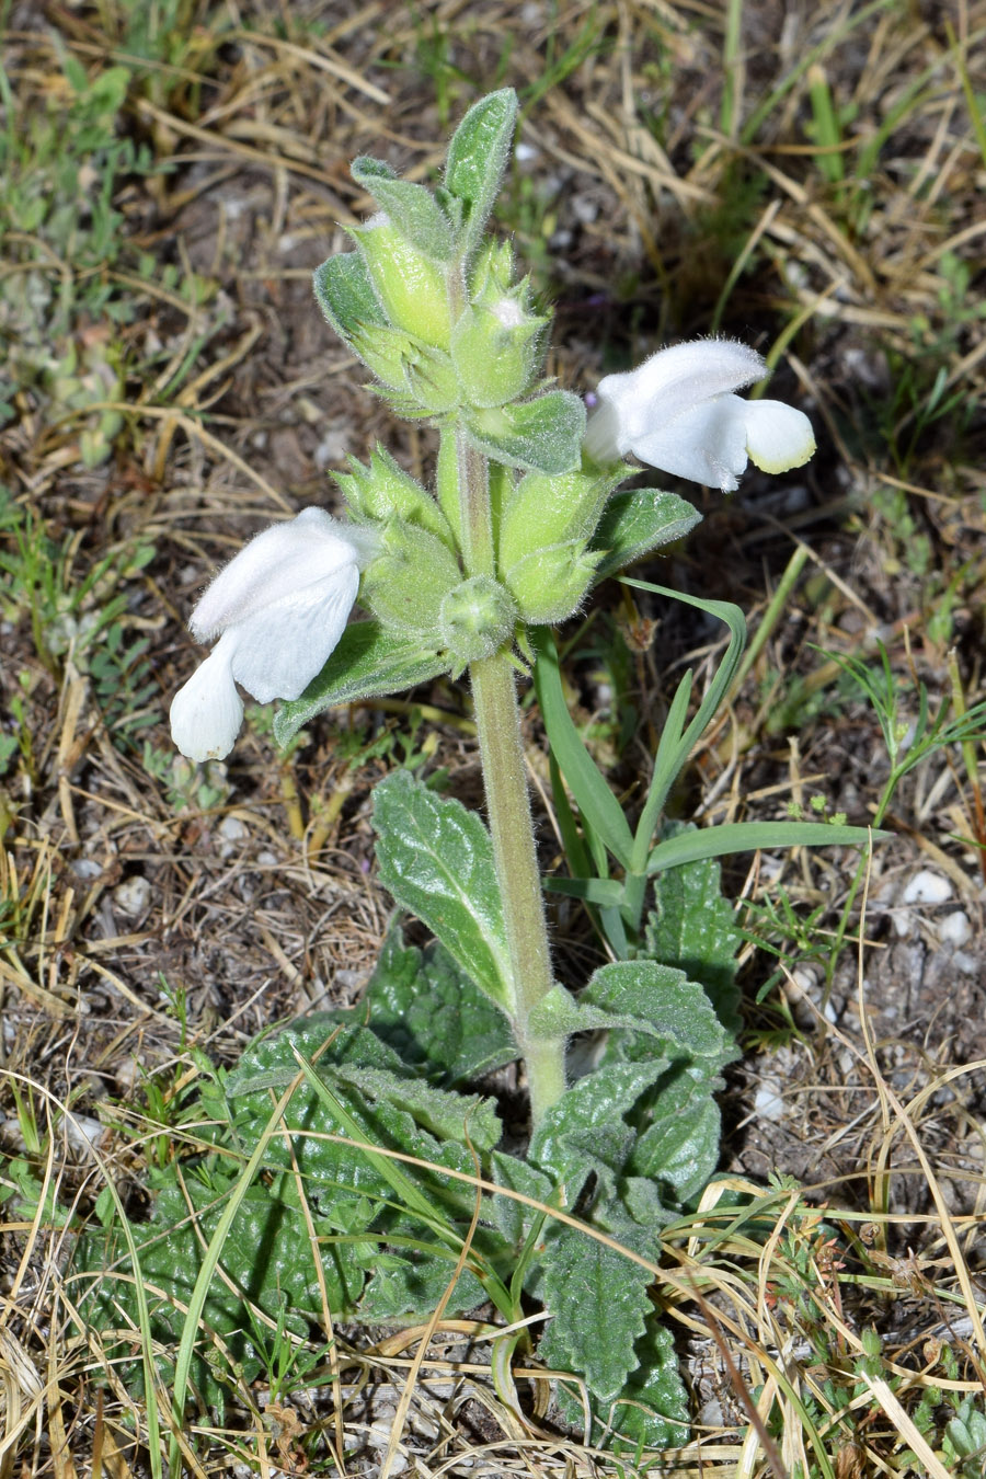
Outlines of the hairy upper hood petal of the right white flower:
M636 451L642 436L662 432L702 402L741 390L766 374L767 365L755 349L730 339L698 339L661 349L627 374L605 376L596 393L600 410L611 408L616 416L615 433L612 419L606 432L618 456L624 456ZM602 439L602 432L596 435Z

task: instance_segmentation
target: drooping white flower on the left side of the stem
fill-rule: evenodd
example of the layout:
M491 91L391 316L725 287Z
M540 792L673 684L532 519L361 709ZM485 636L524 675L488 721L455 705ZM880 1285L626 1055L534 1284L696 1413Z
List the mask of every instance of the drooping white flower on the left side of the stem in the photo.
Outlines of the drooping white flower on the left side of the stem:
M171 738L189 760L222 760L242 723L237 683L269 704L297 698L343 634L373 537L303 509L250 540L192 612L219 642L171 701Z

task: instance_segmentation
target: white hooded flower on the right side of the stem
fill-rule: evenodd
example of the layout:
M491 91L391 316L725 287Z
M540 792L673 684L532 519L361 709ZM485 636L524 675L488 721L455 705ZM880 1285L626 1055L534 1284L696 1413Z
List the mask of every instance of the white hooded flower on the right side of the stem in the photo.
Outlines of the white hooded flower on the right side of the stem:
M633 453L677 478L732 493L751 457L764 472L800 467L815 451L812 423L782 401L744 401L766 361L729 339L698 339L650 355L596 390L585 450L599 463Z

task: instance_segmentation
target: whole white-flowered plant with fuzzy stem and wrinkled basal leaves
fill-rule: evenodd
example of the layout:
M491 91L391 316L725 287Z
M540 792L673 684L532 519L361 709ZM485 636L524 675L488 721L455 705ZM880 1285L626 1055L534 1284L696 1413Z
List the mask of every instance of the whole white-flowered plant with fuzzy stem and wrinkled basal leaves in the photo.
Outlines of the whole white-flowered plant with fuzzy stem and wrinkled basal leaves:
M826 822L665 822L668 791L741 660L745 623L727 602L680 598L721 620L729 645L698 705L690 674L681 680L633 824L582 745L550 629L602 578L698 521L674 493L619 490L637 470L622 458L727 491L748 457L776 472L815 444L801 411L736 395L766 374L739 343L677 345L606 376L588 420L578 395L543 379L548 315L516 278L510 246L485 235L514 120L510 90L477 102L433 194L356 160L378 210L352 231L353 250L315 274L325 318L377 393L438 429L432 487L380 448L365 466L353 460L339 479L346 522L306 509L257 535L192 615L195 636L219 640L171 707L188 756L232 748L237 683L284 701L284 742L324 708L467 673L486 821L408 771L377 787L380 879L435 942L411 950L395 930L358 1009L254 1044L228 1075L213 1112L268 1182L256 1201L250 1177L238 1182L216 1222L217 1238L239 1229L222 1253L222 1288L216 1260L197 1262L192 1244L186 1328L208 1307L248 1371L256 1350L237 1313L239 1284L265 1318L302 1325L327 1300L333 1315L367 1321L420 1318L439 1296L463 1310L491 1302L503 1328L494 1370L519 1411L510 1356L531 1338L522 1300L537 1300L538 1356L584 1383L600 1430L668 1444L681 1438L687 1402L652 1302L661 1229L715 1170L714 1094L736 1052L739 935L715 859L866 834ZM361 620L349 620L355 603ZM534 677L571 865L550 883L584 901L609 955L588 982L559 981L553 967L519 670ZM585 1032L600 1047L591 1072L575 1077L568 1044ZM523 1155L500 1143L494 1097L461 1092L517 1060L531 1102ZM282 1092L276 1133L271 1090ZM475 1188L485 1194L477 1217ZM213 1183L183 1192L200 1198L208 1229ZM266 1268L262 1278L235 1266L259 1245L275 1259L276 1290ZM174 1266L173 1242L149 1248L145 1276L155 1248ZM120 1324L117 1306L109 1318ZM179 1412L191 1373L183 1344ZM204 1362L195 1374L213 1380ZM581 1421L565 1383L559 1405Z

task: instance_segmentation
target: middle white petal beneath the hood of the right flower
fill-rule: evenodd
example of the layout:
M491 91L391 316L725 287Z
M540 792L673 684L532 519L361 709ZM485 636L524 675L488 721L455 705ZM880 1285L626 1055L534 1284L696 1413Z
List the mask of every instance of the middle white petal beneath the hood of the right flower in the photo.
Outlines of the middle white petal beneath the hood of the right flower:
M631 451L676 478L733 493L747 467L748 410L738 395L715 396L636 438Z

